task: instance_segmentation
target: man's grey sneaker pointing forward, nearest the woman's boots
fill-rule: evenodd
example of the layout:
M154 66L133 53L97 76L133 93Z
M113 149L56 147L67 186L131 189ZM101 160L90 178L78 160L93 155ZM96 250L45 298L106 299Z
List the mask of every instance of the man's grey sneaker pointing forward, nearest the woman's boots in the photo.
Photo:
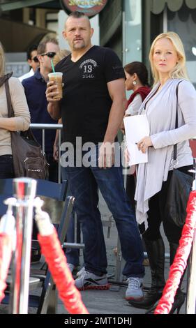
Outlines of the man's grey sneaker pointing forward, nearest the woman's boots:
M130 277L127 279L128 288L126 290L126 299L129 301L134 299L136 301L142 301L143 295L143 279L137 277Z

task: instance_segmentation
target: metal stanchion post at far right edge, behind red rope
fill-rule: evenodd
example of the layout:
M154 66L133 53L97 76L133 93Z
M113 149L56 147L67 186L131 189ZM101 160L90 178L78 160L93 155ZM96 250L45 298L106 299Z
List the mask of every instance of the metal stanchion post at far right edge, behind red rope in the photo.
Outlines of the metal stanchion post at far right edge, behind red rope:
M196 165L194 158L194 181L193 181L193 190L196 190ZM187 292L187 301L186 301L186 313L195 314L196 306L196 227L193 237L192 250L190 252L189 265L188 265L188 292Z

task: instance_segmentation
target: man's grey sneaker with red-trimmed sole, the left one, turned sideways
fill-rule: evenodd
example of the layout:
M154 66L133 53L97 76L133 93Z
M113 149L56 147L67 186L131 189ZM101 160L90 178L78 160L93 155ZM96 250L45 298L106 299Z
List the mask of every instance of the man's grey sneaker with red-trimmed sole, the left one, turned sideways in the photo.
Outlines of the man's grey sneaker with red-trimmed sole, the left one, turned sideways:
M110 285L106 274L96 276L84 269L83 273L75 280L75 287L78 290L107 290Z

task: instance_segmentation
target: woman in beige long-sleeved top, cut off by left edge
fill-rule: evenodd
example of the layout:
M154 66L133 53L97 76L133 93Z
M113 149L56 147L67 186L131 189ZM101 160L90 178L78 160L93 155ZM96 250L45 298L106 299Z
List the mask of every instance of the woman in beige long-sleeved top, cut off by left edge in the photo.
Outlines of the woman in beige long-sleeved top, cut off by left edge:
M8 79L15 117L8 118L5 81ZM11 74L5 74L5 56L0 43L0 179L13 178L13 157L10 131L26 131L30 114L22 84Z

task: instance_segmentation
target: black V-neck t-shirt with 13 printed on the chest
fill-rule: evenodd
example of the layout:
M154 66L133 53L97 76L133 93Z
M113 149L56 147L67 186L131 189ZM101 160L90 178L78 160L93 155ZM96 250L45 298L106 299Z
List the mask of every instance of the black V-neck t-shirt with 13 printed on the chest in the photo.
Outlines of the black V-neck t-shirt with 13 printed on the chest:
M64 141L75 144L82 137L82 144L103 142L112 106L107 82L124 77L119 57L109 48L93 46L75 63L71 55L61 60L55 70L63 73Z

